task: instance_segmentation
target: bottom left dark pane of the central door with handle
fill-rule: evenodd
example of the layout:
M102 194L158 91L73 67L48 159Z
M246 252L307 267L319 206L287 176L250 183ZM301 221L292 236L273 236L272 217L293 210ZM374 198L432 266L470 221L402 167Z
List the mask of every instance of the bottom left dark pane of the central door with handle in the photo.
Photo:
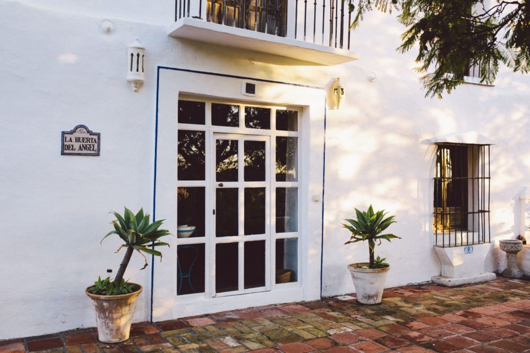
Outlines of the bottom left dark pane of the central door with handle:
M238 243L215 246L215 291L237 291Z

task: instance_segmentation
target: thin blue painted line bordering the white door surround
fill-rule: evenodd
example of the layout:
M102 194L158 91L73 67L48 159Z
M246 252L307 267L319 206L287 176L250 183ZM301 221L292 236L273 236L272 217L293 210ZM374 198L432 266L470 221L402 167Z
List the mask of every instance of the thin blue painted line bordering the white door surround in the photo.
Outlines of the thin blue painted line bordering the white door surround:
M229 77L229 78L238 78L238 79L249 79L257 82L268 82L268 83L276 83L281 85L289 85L289 86L296 86L296 87L305 87L305 88L314 88L314 89L321 89L325 91L325 87L319 87L319 86L310 86L310 85L301 85L301 84L295 84L295 83L289 83L289 82L281 82L281 81L275 81L275 80L267 80L263 78L254 78L254 77L247 77L247 76L237 76L237 75L227 75L227 74L219 74L219 73L211 73L209 71L199 71L199 70L191 70L191 69L181 69L176 67L168 67L168 66L158 66L156 70L156 112L155 112L155 171L154 171L154 185L153 185L153 221L156 220L156 160L157 160L157 147L158 147L158 94L160 91L160 70L173 70L173 71L183 71L186 73L193 73L193 74L202 74L202 75L211 75L211 76L219 76L219 77ZM320 297L322 297L322 270L323 270L323 261L324 261L324 184L325 184L325 160L326 160L326 112L327 112L327 99L324 98L324 155L323 155L323 165L322 165L322 227L321 227L321 245L320 245ZM179 231L177 230L177 233ZM151 256L151 319L150 321L153 322L153 290L154 290L154 256Z

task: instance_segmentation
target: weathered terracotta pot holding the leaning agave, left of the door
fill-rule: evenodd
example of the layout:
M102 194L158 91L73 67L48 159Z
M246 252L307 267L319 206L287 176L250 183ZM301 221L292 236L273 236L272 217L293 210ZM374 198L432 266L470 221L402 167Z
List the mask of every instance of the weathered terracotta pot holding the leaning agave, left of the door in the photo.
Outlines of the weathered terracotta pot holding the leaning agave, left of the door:
M96 312L98 325L98 339L104 343L118 343L129 339L133 314L136 309L138 295L143 287L136 283L129 283L139 288L136 292L119 295L98 295L88 292L86 295L92 299Z

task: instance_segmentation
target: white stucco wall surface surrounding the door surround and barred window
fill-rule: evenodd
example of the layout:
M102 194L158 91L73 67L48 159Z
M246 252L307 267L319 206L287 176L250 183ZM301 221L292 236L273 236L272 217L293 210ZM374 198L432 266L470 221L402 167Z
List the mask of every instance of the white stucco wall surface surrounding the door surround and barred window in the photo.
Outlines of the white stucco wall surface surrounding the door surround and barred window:
M475 130L496 141L492 239L518 231L518 192L530 185L529 76L502 69L494 87L465 85L443 100L424 98L413 53L394 50L402 28L390 16L366 16L352 36L358 61L323 67L170 38L173 10L168 0L148 7L140 0L0 0L0 195L7 225L0 317L9 318L0 339L95 324L84 288L107 268L115 273L121 261L113 254L116 239L99 245L110 230L107 212L123 205L152 212L159 65L312 86L341 77L347 95L340 110L328 110L326 124L324 296L354 291L346 264L367 259L367 245L343 246L348 232L340 223L353 207L370 203L396 215L390 230L403 238L377 248L392 265L387 286L440 274L430 230L434 148L421 143L435 135ZM112 31L101 30L104 20ZM126 46L135 38L147 56L138 93L125 80ZM371 72L374 85L366 80ZM77 124L101 133L100 157L60 156L60 132ZM497 248L485 267L499 270L503 261ZM135 254L126 278L145 286L135 321L150 315L151 269L140 267Z

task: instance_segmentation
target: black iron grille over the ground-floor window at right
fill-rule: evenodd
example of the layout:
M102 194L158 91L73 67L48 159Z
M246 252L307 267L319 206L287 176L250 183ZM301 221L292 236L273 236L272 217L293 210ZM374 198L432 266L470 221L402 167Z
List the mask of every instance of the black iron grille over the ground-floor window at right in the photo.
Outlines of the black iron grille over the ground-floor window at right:
M436 246L490 242L489 144L437 144L432 219Z

